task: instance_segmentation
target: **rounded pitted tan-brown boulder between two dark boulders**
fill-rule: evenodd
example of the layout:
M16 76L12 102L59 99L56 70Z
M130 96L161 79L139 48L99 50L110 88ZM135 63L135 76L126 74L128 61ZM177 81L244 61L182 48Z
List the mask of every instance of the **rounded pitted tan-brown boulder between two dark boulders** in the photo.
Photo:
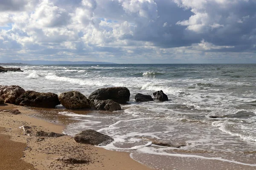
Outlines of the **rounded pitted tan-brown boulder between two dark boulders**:
M62 93L58 96L61 105L67 109L81 109L91 108L93 102L87 99L86 96L81 94L79 91L69 91Z

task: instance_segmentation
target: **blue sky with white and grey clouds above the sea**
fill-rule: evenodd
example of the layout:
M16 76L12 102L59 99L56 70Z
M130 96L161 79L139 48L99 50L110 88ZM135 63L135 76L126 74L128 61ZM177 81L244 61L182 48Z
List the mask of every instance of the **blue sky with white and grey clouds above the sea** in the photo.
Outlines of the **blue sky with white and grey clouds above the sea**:
M256 0L0 0L0 62L256 63Z

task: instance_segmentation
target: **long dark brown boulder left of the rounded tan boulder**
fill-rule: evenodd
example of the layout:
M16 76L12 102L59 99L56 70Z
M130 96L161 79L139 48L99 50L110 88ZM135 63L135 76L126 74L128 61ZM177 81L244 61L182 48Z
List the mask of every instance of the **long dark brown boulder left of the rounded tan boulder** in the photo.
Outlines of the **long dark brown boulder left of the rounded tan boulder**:
M26 91L16 99L15 103L16 105L39 108L55 108L56 105L61 104L57 94L36 91Z

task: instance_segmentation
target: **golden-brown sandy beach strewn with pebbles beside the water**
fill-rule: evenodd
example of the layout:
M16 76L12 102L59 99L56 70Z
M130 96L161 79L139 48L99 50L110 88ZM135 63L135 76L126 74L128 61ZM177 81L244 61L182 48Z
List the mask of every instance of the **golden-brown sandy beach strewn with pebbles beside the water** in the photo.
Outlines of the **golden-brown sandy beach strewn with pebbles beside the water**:
M18 161L21 169L14 168L15 170L24 170L24 167L26 167L25 170L34 170L33 167L36 170L151 170L151 168L131 159L127 152L79 144L68 135L58 138L36 137L36 131L62 133L65 126L31 117L37 112L22 106L3 104L0 105L0 109L18 109L21 112L21 114L13 115L0 111L0 138L4 139L4 141L1 141L4 145L1 145L6 146L7 153L12 153L11 156L7 156L10 162L0 163L0 167L9 167L0 169L12 169L11 165L13 164L11 162ZM31 127L29 136L22 134L23 130L19 127L23 125ZM12 151L13 147L24 151L18 154ZM2 151L1 153L0 157L4 152ZM7 159L6 157L4 158ZM73 163L74 161L70 161L71 159L81 160L86 163ZM24 164L23 167L21 166L22 164Z

